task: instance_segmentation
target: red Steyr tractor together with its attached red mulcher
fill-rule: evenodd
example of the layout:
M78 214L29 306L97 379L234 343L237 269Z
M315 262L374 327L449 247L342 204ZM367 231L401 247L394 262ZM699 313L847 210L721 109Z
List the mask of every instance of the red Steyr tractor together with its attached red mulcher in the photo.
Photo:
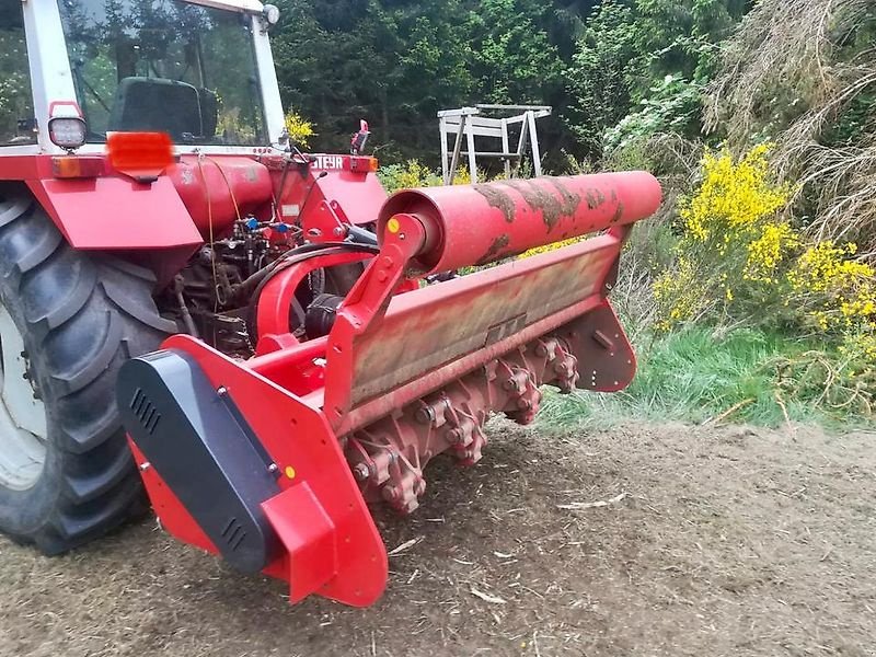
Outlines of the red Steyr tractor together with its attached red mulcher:
M351 154L290 143L277 18L0 9L0 530L58 554L146 493L176 538L292 601L366 606L387 581L370 504L413 512L429 460L475 464L487 418L532 422L543 385L631 381L608 295L660 188L633 172L387 198L365 128Z

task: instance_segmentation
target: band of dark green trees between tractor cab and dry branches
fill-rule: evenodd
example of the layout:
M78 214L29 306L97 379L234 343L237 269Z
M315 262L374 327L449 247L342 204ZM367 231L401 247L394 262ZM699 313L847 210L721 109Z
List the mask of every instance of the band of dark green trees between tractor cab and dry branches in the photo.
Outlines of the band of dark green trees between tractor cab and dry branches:
M345 148L367 118L381 158L434 165L438 111L537 103L556 111L540 131L562 166L563 149L600 155L603 130L656 80L699 82L704 44L738 18L737 3L278 0L274 51L286 104L321 128L315 149ZM702 51L688 43L690 28Z

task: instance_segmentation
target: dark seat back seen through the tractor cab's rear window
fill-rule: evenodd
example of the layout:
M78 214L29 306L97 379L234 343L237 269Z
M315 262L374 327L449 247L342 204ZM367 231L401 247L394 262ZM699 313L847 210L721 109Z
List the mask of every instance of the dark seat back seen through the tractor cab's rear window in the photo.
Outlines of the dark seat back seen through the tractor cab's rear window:
M161 78L125 78L118 84L107 131L168 132L174 141L216 135L216 94Z

